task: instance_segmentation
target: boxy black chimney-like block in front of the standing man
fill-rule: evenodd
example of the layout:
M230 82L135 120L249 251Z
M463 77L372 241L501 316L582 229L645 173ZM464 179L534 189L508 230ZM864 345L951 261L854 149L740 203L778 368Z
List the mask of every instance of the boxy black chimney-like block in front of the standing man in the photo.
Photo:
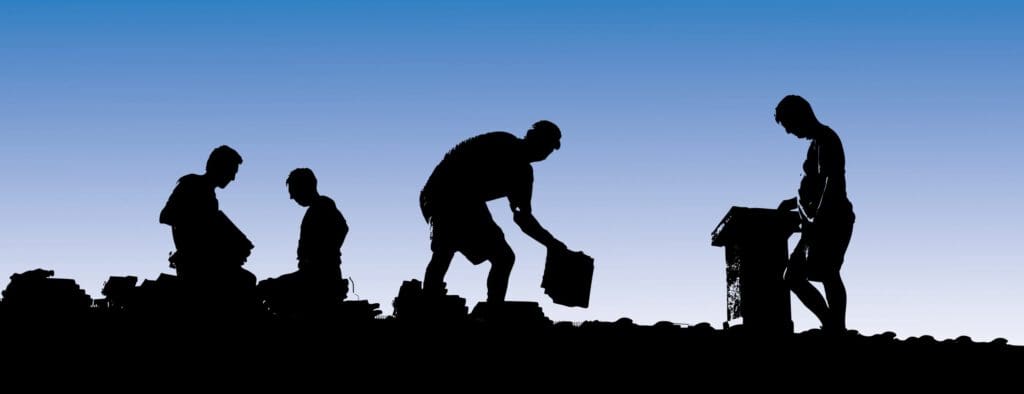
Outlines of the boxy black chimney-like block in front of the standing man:
M725 248L726 325L741 317L751 332L793 333L782 274L799 228L795 212L743 207L732 207L715 227L711 245Z

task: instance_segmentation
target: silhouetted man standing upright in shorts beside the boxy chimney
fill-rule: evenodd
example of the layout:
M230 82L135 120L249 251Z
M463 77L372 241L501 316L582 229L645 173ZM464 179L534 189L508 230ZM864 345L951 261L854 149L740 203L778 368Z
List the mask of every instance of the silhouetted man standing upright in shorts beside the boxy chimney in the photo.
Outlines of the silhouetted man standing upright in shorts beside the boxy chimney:
M790 257L785 280L797 298L821 320L823 330L844 332L846 287L840 268L850 245L855 216L846 195L843 142L831 128L818 122L811 104L800 96L788 95L779 101L775 122L786 133L811 140L799 196L778 206L783 211L798 210L801 217L800 242ZM809 280L820 281L825 297Z

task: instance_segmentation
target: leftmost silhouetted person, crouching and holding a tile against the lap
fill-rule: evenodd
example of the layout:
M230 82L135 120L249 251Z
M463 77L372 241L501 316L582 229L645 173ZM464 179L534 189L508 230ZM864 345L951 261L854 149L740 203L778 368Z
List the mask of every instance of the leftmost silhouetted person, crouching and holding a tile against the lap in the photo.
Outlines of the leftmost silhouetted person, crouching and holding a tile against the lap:
M194 290L239 297L255 290L256 277L242 268L253 245L220 211L216 194L217 187L234 180L241 164L234 149L213 149L206 173L178 179L160 212L160 222L171 226L177 249L169 259L171 267Z

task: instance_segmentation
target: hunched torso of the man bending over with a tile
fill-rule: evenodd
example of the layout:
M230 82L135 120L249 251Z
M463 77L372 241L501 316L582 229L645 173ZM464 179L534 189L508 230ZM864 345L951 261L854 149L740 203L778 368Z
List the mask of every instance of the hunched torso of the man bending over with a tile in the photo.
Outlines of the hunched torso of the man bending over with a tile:
M434 168L420 193L424 217L500 198L528 199L534 168L524 149L522 139L502 131L456 145Z

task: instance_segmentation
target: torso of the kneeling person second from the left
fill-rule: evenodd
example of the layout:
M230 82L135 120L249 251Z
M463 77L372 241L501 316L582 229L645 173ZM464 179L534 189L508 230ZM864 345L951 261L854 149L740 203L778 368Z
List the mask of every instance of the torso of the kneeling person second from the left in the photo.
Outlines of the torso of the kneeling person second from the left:
M348 223L334 201L317 196L302 217L297 251L299 269L337 269L341 264L341 245L348 234Z

